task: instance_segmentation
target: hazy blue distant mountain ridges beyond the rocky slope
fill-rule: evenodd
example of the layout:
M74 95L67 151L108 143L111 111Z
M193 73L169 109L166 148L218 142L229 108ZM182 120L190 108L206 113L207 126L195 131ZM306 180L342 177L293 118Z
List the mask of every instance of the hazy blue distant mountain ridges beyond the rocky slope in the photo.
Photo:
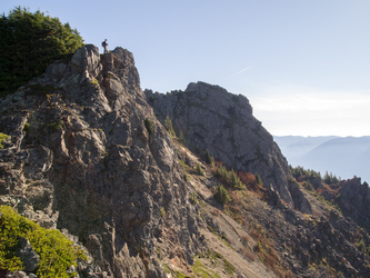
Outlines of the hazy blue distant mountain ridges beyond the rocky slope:
M300 137L276 136L288 162L342 179L361 177L370 181L370 136L364 137Z

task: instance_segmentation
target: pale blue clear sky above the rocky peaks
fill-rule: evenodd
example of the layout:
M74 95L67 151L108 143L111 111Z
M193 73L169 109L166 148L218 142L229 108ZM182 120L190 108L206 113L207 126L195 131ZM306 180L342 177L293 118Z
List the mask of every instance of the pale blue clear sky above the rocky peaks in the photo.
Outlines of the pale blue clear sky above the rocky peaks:
M2 0L134 56L142 89L218 85L274 136L370 136L369 0Z

